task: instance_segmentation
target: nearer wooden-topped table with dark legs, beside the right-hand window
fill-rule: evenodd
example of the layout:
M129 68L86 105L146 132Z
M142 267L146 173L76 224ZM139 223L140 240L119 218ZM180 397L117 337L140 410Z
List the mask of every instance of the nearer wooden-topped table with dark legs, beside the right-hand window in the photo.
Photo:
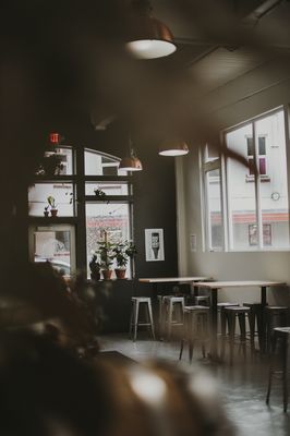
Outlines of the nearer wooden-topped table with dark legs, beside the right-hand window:
M262 304L262 328L265 331L265 316L264 308L267 304L267 288L285 286L281 281L267 281L267 280L238 280L238 281L210 281L198 282L198 288L208 289L212 296L212 347L210 354L213 359L218 359L217 352L217 302L218 290L221 288L259 288L261 289L261 304ZM263 341L263 350L265 351L265 340Z

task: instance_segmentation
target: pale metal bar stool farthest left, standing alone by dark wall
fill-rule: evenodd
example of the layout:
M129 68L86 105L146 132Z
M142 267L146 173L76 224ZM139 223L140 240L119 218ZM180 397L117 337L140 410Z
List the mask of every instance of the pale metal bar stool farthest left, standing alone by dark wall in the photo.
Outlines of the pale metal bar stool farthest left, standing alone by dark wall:
M154 331L154 322L153 322L153 312L152 312L152 299L149 296L132 296L132 310L131 310L131 319L130 319L130 338L132 339L133 332L133 341L135 342L137 338L137 328L138 326L147 326L150 327L153 339L155 339ZM146 310L146 322L141 322L138 319L140 316L140 306L143 304Z

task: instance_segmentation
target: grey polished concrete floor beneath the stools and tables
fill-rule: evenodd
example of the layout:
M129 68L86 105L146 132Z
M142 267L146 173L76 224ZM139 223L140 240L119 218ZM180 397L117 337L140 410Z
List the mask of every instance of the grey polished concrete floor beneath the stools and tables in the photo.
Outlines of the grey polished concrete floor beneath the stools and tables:
M179 341L153 341L147 334L140 335L132 342L128 335L105 335L99 338L102 351L119 351L138 362L148 359L162 359L177 365L188 362L188 350L184 348L182 362L179 361ZM250 353L249 353L250 354ZM203 368L217 380L221 400L228 416L237 427L238 436L286 436L290 434L290 403L288 413L282 411L281 382L275 380L270 397L270 405L265 403L268 364L259 356L244 361L235 352L233 366L228 363L214 364L202 359L200 347L194 350L192 371Z

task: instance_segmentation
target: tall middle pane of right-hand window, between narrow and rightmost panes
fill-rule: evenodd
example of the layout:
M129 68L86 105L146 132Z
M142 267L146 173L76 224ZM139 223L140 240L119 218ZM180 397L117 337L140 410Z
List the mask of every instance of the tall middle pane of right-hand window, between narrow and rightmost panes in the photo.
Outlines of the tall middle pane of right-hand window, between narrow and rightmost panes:
M226 134L227 145L246 158L249 138L253 137L252 124ZM249 169L228 159L229 242L231 250L251 250L249 225L256 225L255 184L249 180Z

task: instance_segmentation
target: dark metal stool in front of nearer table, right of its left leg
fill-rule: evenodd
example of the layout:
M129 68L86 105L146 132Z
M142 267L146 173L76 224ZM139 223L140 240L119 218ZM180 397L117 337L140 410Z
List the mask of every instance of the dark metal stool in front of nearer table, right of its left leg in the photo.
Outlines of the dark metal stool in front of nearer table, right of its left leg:
M237 317L239 319L239 326L240 326L239 346L240 346L240 348L242 348L244 359L246 358L245 315L247 315L249 312L250 312L250 307L246 307L246 306L239 306L239 307L231 306L231 307L225 308L225 314L226 314L226 319L228 322L228 330L229 330L230 365L232 365L232 362L233 362L233 346L234 346L235 318ZM226 340L226 335L222 335L222 338L221 338L221 356L222 358L225 355L225 340Z

